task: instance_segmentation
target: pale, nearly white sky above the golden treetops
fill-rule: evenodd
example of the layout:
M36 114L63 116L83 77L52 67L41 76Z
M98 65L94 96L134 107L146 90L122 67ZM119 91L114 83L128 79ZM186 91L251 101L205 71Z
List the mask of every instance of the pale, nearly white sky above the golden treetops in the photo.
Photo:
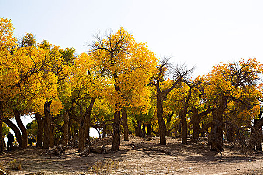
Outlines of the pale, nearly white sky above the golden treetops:
M207 74L220 62L263 62L262 0L0 0L14 36L35 34L87 52L93 35L123 27L157 57Z

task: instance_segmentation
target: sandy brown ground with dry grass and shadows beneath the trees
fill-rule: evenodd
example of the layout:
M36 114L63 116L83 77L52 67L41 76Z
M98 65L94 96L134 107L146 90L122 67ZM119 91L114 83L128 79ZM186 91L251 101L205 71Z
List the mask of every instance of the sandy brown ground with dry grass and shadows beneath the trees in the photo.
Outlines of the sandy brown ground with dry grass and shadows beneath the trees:
M1 166L8 174L263 174L263 153L241 151L226 146L225 151L212 152L204 140L188 145L180 139L166 139L166 145L159 145L159 138L147 141L131 136L130 141L121 141L120 151L106 154L90 153L80 157L77 148L66 149L62 156L46 154L47 150L29 147L0 155ZM122 138L123 140L123 138ZM93 144L106 144L110 149L111 139L94 140ZM159 148L171 152L133 150L130 144ZM15 160L15 161L14 161ZM21 170L10 170L14 164L21 164ZM13 166L13 167L12 167ZM42 173L37 173L42 172ZM1 174L1 173L0 173Z

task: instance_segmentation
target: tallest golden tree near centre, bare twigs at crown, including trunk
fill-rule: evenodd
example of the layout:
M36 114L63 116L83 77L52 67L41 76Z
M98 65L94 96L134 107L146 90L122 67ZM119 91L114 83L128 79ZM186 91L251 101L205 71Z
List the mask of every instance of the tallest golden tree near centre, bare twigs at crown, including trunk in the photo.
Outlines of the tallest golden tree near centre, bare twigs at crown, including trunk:
M145 86L140 81L131 81L130 78L147 81L153 72L156 63L154 53L152 53L145 43L137 43L123 28L116 34L110 31L102 39L98 34L96 41L90 44L90 53L101 67L101 72L112 79L114 89L109 92L111 103L115 106L113 122L113 140L111 150L119 150L120 145L120 111L127 107L123 96L125 91L133 90L134 87ZM147 83L146 83L147 84ZM125 90L124 90L125 89Z

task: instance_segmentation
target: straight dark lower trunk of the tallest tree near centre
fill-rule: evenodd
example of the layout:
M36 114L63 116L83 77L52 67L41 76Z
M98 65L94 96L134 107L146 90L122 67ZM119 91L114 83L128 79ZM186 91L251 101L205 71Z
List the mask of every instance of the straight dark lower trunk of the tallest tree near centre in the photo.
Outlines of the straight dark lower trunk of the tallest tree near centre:
M112 127L111 151L120 150L120 142L121 142L121 127L120 127L120 125L121 125L120 112L115 111L114 123L113 123L113 127Z

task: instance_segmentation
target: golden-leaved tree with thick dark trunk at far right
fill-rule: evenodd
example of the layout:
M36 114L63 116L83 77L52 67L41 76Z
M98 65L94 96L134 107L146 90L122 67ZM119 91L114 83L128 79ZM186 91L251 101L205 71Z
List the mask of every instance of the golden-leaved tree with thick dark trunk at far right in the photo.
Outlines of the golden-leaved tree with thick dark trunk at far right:
M238 103L247 109L246 116L252 120L259 114L259 99L261 93L257 84L262 73L262 64L255 59L216 65L207 75L208 85L205 88L207 101L214 110L211 128L211 150L223 150L224 117L227 114L227 105L231 102ZM251 98L252 97L252 98ZM243 118L245 119L245 118Z

